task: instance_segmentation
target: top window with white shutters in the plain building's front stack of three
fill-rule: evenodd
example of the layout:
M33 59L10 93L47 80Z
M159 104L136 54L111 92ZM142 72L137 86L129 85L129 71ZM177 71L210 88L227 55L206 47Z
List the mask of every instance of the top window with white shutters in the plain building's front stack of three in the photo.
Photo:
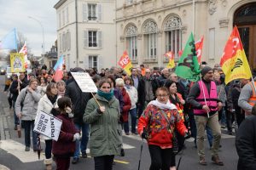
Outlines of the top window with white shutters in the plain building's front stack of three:
M83 4L83 20L84 21L102 21L102 4L100 3L84 3Z

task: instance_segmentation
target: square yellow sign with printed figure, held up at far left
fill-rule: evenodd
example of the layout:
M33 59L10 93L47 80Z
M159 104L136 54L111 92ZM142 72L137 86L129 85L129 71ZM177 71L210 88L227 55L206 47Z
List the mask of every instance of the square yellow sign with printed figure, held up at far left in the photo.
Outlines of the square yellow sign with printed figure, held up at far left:
M10 53L11 72L25 72L24 54Z

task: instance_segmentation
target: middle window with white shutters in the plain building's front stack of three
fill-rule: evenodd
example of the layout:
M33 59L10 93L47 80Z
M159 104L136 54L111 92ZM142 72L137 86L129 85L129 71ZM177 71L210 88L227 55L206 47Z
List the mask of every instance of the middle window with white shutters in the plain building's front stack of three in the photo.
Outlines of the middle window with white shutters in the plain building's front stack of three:
M102 31L84 31L85 48L102 48Z

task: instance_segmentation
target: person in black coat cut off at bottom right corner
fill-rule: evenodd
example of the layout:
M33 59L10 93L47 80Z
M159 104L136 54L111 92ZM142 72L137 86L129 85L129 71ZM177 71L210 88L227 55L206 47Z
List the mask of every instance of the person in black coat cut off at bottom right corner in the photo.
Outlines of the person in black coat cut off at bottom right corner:
M256 105L236 133L236 151L239 156L237 170L256 169Z

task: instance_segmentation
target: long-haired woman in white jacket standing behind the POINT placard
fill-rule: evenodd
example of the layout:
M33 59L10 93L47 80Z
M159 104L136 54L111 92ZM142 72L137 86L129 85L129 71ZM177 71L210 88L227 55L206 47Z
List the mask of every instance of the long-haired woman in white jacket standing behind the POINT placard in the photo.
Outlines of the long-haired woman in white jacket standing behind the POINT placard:
M46 94L40 99L38 103L38 113L40 111L44 111L45 113L51 114L53 108L57 108L57 97L58 90L55 82L49 82L49 85L46 88ZM44 164L46 165L47 170L52 169L52 158L51 158L51 150L52 150L52 139L49 139L46 136L43 136L45 141L45 159Z

